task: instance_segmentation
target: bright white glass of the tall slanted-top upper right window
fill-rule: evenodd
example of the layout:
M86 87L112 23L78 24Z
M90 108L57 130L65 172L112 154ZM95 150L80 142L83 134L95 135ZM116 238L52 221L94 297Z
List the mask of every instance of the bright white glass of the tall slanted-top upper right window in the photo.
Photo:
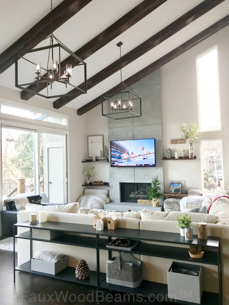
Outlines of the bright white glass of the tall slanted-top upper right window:
M196 58L200 131L221 130L217 46Z

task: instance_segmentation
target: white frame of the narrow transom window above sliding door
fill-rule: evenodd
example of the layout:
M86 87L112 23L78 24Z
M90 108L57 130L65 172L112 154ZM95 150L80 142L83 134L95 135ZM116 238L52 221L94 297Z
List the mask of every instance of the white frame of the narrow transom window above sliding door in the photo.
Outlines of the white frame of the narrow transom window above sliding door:
M2 113L1 112L1 106L11 106L11 107L16 107L16 108L20 108L23 110L28 110L28 111L33 111L33 112L37 112L37 113L41 113L41 114L45 114L48 116L52 116L52 117L59 117L62 119L66 120L66 125L62 125L62 124L57 124L57 123L51 123L51 122L46 122L46 121L42 121L42 120L36 120L36 119L29 119L26 117L20 117L20 116L16 116L13 114L6 114L6 113ZM43 109L43 108L39 108L36 106L31 106L31 105L26 105L20 102L15 102L15 101L11 101L8 99L3 99L0 98L0 116L2 118L8 118L8 119L12 119L14 118L14 120L20 120L23 122L28 122L31 124L37 123L39 125L46 125L46 126L50 126L50 127L57 127L57 128L63 128L63 129L68 129L69 128L69 122L68 122L68 115L67 114L62 114L62 113L58 113L55 111L51 111L51 110L47 110L47 109Z

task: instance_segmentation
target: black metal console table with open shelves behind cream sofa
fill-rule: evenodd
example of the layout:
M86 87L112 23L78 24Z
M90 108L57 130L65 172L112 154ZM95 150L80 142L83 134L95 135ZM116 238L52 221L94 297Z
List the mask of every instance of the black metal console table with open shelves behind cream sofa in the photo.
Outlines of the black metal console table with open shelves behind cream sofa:
M222 305L222 269L221 269L221 255L220 255L220 238L209 236L207 240L198 239L194 235L193 241L186 241L184 237L181 237L178 233L166 233L158 231L147 231L138 229L125 229L117 228L115 230L109 230L105 228L103 231L96 231L92 225L84 224L70 224L61 222L46 222L38 223L36 225L29 225L28 221L23 223L15 224L14 229L17 227L29 228L30 230L21 234L14 235L14 283L15 283L15 271L23 271L28 273L33 273L37 275L43 275L46 277L61 279L65 281L80 283L84 285L91 285L97 288L97 291L101 289L114 290L118 292L124 292L134 295L142 295L143 297L149 297L154 294L160 295L161 300L166 300L170 303L183 304L183 305L197 305L195 303L188 303L180 300L168 299L168 286L166 284L151 282L143 280L141 285L137 288L129 288L120 285L109 284L106 282L106 274L100 272L100 250L107 250L108 258L111 258L112 251L115 249L106 248L108 242L111 241L112 237L138 239L140 241L151 241L151 242L161 242L161 243L171 243L173 246L168 245L155 245L140 242L132 251L125 251L132 254L140 254L152 257L162 257L169 258L171 260L182 260L191 263L200 264L210 264L218 267L218 278L219 278L219 293L213 292L203 292L201 305ZM56 237L52 240L44 239L33 239L32 238L32 228L43 229L43 230L55 230L64 231L65 234ZM84 235L92 236L80 236L71 235L70 233L78 233ZM75 278L75 268L67 267L60 271L56 275L31 271L30 260L26 263L15 267L15 238L28 239L30 240L30 258L32 258L32 240L43 241L43 242L54 242L65 245L80 246L96 249L96 267L97 271L90 271L89 278L86 280L79 280ZM192 245L203 247L205 253L204 257L201 259L194 259L189 256L187 248L181 248L174 245ZM158 299L158 301L160 301Z

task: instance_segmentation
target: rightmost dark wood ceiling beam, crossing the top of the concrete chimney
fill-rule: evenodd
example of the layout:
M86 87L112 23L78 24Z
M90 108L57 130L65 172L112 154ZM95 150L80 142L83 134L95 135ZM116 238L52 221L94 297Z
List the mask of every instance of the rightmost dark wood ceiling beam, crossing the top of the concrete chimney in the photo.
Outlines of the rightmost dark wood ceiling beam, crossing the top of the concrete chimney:
M203 30L201 33L197 34L193 38L189 39L179 47L175 48L173 51L169 52L168 54L162 56L154 63L151 63L149 66L145 67L144 69L140 70L136 74L132 75L131 77L127 78L124 83L126 86L130 86L136 81L139 81L143 77L147 76L148 74L154 72L158 68L164 66L166 63L169 63L171 60L175 59L177 56L183 54L184 52L188 51L189 49L193 48L195 45L198 45L200 42L204 41L205 39L209 38L213 34L217 33L219 30L222 30L224 27L229 25L229 15L224 17L223 19L219 20L218 22L214 23L212 26L208 27L207 29ZM108 90L106 93L116 93L118 91L119 84L113 87L111 90ZM86 105L82 106L77 110L78 115L82 115L89 110L95 108L96 106L101 104L101 96L98 96L93 101L87 103Z

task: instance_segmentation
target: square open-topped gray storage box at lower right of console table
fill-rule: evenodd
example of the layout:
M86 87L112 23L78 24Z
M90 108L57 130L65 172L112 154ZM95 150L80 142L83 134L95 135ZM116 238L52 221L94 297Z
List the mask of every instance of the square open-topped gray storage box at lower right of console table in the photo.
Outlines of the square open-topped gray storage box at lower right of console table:
M194 271L198 276L172 272L176 268ZM173 262L168 272L168 297L190 303L201 303L202 266Z

